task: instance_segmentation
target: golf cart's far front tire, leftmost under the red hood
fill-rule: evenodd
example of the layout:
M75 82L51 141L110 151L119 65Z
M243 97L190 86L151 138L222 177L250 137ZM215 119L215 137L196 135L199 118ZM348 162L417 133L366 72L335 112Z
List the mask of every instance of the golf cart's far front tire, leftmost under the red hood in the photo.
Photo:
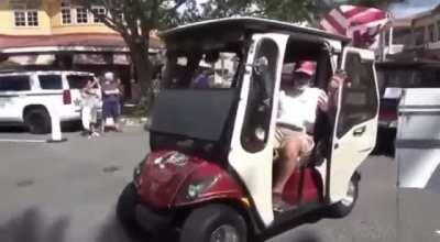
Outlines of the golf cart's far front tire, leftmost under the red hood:
M135 219L136 204L136 188L133 183L130 183L122 190L117 204L117 217L122 227L130 231L140 229Z

